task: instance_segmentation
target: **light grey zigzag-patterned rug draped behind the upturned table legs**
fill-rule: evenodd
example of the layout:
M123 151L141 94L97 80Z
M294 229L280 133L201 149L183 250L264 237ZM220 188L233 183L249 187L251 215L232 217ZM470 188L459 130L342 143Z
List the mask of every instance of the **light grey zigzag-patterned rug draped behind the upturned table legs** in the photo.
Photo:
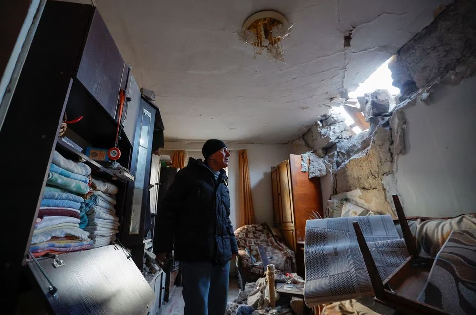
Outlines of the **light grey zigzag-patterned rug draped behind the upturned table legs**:
M307 220L304 301L308 307L373 295L353 221L359 223L382 279L408 257L390 215Z

